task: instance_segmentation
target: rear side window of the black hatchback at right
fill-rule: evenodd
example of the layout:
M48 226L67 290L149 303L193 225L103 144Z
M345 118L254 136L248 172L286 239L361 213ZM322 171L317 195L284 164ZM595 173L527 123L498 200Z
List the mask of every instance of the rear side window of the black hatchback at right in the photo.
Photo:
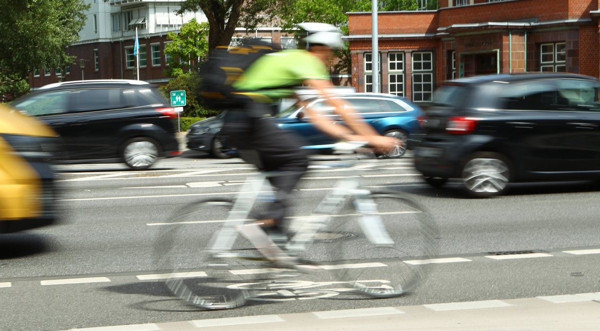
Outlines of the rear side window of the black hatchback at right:
M569 110L569 101L551 80L508 85L500 96L500 105L508 110Z

